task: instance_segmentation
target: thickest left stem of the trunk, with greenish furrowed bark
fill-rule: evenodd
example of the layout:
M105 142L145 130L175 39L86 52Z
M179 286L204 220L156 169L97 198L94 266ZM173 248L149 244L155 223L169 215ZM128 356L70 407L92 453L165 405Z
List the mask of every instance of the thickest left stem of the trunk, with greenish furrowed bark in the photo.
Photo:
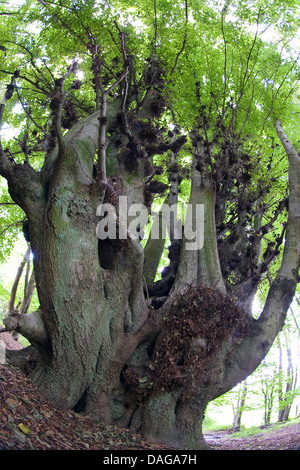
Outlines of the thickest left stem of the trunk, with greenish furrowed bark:
M106 242L96 235L101 202L93 185L97 118L94 114L73 129L42 174L34 173L38 198L27 192L24 201L16 184L19 171L23 183L32 169L13 168L9 187L29 220L44 334L33 338L34 331L25 331L32 315L15 315L7 327L16 328L19 319L17 328L37 346L41 358L31 377L49 398L68 408L78 402L87 410L97 406L99 416L110 421L111 390L147 309L140 245L112 240L105 247L110 259L99 256Z

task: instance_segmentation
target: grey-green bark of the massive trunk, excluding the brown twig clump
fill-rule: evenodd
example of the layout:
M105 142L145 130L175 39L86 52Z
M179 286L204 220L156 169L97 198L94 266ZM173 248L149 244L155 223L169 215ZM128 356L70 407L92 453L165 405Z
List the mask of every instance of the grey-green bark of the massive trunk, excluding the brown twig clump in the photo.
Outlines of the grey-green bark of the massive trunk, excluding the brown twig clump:
M108 107L108 127L118 109L118 103ZM36 322L26 315L22 315L23 320L17 319L18 328L41 352L42 359L31 377L61 407L80 404L83 411L103 421L127 420L128 425L131 422L144 434L170 445L203 447L202 419L207 403L259 365L282 328L294 296L300 253L299 157L277 122L289 160L290 204L281 267L260 317L250 319L245 338L239 338L238 331L224 338L200 381L192 384L191 397L183 400L184 390L175 387L172 392L150 396L134 411L134 400L121 383L121 373L143 342L153 350L163 316L172 312L174 293L191 283L208 284L226 293L216 242L216 190L194 165L190 203L205 206L204 246L202 250L188 250L189 240L183 240L174 290L162 310L151 318L143 294L144 257L139 242L129 240L110 247L110 242L105 245L101 241L100 249L105 245L103 252L111 248L114 256L111 260L106 257L109 266L103 265L101 256L100 261L98 258L96 209L102 197L93 181L98 117L97 111L77 123L40 173L30 165L10 165L1 154L1 174L8 180L12 198L28 216L35 254L41 316L34 316ZM128 136L123 136L123 145L126 139ZM106 154L107 164L110 155L112 166L121 175L128 204L143 202L142 162L133 175L114 148ZM30 321L25 324L24 318ZM46 336L49 341L45 341ZM200 340L195 343L199 357L203 354ZM117 411L118 400L121 411Z

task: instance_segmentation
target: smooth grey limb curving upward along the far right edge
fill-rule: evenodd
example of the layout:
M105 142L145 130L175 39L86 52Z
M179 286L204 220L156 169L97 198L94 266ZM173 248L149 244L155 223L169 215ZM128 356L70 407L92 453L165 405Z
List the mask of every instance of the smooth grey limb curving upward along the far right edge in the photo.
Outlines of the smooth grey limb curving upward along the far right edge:
M245 341L235 350L220 394L252 373L283 327L293 301L300 266L300 158L277 120L276 131L289 161L289 211L282 261L264 309L253 320Z

